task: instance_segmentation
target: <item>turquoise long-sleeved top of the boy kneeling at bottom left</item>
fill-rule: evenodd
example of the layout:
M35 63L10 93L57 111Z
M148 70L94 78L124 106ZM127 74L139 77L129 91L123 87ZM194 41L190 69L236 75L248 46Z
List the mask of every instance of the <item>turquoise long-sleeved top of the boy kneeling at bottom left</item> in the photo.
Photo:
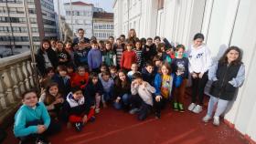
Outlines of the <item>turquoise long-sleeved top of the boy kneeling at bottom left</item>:
M16 112L14 133L16 137L24 137L37 133L37 126L28 126L27 123L35 120L43 120L44 125L48 128L50 118L48 110L41 102L37 103L36 108L30 108L22 105Z

